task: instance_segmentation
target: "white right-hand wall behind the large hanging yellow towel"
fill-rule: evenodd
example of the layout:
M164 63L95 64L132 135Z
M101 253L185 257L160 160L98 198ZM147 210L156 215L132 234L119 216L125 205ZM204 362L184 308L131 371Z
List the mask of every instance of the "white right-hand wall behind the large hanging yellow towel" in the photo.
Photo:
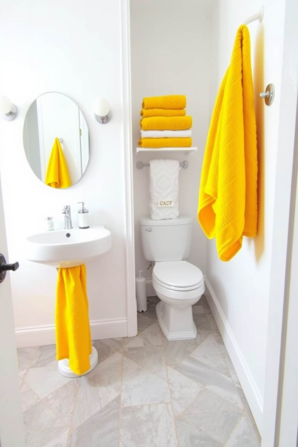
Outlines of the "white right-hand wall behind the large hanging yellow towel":
M206 253L206 277L213 298L210 300L212 310L260 431L273 247L284 8L284 1L265 1L262 23L248 25L257 119L258 235L254 239L244 238L242 249L228 263L219 261L214 241L207 243ZM214 73L213 95L210 95L212 104L229 65L236 30L243 20L259 9L260 3L255 0L218 2L212 21L215 37L212 50L214 65L211 66ZM269 82L275 85L276 94L273 105L266 107L258 94Z

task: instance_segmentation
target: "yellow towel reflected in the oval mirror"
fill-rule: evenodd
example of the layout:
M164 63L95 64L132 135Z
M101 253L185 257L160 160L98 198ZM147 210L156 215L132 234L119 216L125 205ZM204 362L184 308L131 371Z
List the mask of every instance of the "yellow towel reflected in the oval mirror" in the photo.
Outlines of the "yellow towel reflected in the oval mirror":
M60 145L59 138L55 138L46 169L46 185L52 188L67 188L71 186L67 163Z

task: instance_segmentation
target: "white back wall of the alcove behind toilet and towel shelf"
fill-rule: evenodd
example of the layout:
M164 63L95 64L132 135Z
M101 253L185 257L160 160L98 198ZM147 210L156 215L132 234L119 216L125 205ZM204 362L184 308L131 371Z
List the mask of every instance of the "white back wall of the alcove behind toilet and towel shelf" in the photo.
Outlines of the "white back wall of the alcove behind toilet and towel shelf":
M197 199L208 131L210 76L210 20L213 2L187 0L130 0L131 89L134 153L139 139L139 120L143 97L185 94L186 114L193 118L192 139L197 152L141 153L134 156L134 227L136 274L151 278L148 261L143 258L139 218L149 216L149 168L137 169L138 160L189 161L179 173L180 215L193 217L193 244L189 261L205 272L206 238L197 223Z

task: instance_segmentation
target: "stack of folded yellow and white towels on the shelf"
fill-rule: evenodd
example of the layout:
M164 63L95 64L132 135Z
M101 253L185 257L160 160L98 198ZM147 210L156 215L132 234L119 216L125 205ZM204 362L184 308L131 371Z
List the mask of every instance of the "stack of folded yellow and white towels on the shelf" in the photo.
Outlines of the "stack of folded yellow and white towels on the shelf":
M185 95L143 99L140 115L141 148L190 148L193 120L186 116Z

